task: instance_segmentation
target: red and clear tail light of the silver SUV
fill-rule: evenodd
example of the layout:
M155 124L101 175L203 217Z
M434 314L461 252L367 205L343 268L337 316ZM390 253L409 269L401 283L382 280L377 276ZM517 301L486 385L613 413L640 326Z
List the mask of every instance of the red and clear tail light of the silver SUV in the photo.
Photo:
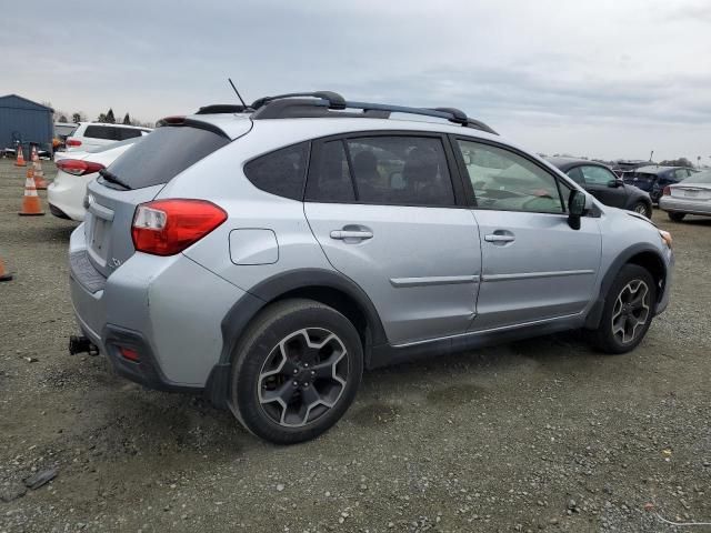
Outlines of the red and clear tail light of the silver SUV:
M204 200L156 200L139 205L131 237L139 252L174 255L227 220L227 213Z

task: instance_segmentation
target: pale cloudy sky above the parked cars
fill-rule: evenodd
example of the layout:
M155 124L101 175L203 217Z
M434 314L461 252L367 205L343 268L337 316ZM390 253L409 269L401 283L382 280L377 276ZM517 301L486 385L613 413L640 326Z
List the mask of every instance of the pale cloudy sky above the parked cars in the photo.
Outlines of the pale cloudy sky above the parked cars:
M710 0L40 0L0 94L143 121L282 92L457 107L531 151L711 164Z

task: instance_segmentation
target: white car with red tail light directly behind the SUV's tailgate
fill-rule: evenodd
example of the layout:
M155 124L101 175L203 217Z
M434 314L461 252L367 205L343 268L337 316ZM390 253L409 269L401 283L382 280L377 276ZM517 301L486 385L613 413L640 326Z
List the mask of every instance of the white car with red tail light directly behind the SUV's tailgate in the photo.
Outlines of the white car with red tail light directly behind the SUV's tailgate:
M91 152L58 152L54 157L57 177L47 188L50 212L60 219L84 220L89 182L140 140L140 137L134 137Z

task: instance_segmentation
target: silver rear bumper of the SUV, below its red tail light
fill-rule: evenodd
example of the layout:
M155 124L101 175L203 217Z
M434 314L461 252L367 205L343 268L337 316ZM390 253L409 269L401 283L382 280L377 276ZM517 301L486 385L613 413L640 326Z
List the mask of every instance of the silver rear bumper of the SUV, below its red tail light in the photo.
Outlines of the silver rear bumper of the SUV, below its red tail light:
M82 333L116 371L146 386L206 388L219 363L221 321L244 292L184 255L136 253L109 278L86 257L83 224L72 233L70 290ZM139 354L127 360L119 348Z

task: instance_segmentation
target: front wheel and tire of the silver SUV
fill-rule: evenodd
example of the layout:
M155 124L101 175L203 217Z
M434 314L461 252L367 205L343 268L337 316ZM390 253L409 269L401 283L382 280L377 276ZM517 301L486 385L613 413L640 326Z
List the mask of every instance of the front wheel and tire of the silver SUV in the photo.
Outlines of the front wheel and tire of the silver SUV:
M605 353L634 350L652 323L655 303L652 274L637 264L625 264L608 292L593 342Z

